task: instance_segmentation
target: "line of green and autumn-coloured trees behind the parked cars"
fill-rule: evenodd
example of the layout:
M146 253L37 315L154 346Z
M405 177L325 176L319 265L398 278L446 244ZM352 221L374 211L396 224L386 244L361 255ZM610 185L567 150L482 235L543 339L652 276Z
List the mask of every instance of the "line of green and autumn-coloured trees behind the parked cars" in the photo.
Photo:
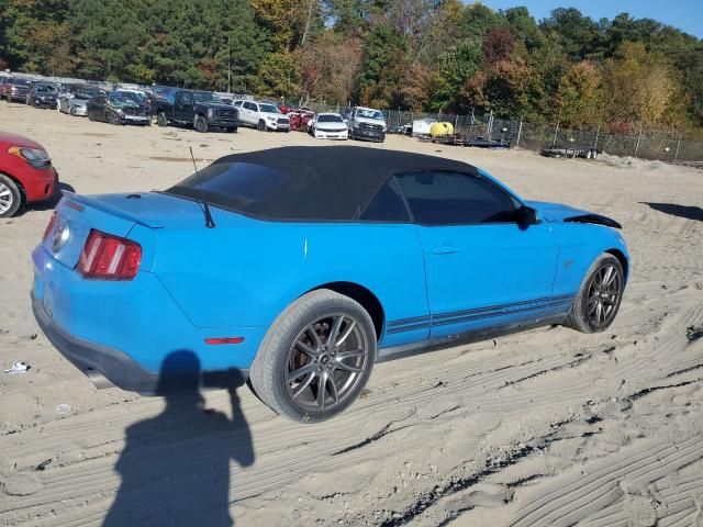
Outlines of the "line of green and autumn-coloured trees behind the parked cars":
M703 41L460 0L0 0L0 67L562 126L703 126Z

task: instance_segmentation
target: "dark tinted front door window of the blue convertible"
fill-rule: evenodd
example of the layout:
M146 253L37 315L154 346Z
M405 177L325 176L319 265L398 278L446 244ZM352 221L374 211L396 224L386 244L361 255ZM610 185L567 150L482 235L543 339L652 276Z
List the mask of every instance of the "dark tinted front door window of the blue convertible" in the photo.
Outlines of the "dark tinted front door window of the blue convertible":
M467 225L515 222L515 201L480 177L457 172L414 172L399 178L417 223Z

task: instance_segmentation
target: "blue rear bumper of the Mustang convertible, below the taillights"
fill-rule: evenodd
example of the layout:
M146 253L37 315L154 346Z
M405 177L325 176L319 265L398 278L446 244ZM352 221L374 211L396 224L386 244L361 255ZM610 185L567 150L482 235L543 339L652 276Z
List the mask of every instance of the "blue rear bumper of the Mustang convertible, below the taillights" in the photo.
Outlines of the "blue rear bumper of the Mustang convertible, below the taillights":
M71 236L81 238L82 226L62 217ZM34 249L32 259L34 316L58 351L89 377L154 393L169 358L188 354L197 360L203 388L231 388L235 379L246 380L264 328L194 326L150 272L130 281L87 280L72 260L57 259L45 244ZM244 341L205 343L214 337Z

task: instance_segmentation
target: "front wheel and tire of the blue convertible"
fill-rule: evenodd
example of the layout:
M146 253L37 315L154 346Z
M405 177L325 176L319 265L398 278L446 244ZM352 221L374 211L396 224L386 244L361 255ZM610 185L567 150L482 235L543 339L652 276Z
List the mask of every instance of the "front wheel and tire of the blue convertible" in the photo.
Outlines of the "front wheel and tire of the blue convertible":
M606 274L609 268L613 274ZM581 333L605 330L617 315L624 290L622 264L610 253L603 253L585 273L565 325Z

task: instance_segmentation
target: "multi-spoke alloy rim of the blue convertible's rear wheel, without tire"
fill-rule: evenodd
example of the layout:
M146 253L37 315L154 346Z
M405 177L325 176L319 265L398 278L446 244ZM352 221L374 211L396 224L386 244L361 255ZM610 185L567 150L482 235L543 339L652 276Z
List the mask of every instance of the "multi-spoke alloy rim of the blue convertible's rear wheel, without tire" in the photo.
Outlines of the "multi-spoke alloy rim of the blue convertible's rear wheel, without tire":
M291 402L309 413L344 403L364 380L370 343L359 321L335 313L308 324L288 351L284 382Z

